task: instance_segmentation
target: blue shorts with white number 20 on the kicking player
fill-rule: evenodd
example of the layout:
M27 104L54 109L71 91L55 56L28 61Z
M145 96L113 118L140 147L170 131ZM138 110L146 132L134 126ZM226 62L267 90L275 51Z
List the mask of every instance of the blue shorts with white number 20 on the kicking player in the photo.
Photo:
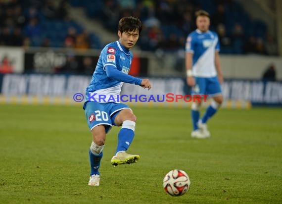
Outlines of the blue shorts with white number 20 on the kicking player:
M115 126L115 117L122 109L130 108L124 103L115 102L87 102L85 104L85 116L88 127L92 130L97 125L105 125L106 133Z

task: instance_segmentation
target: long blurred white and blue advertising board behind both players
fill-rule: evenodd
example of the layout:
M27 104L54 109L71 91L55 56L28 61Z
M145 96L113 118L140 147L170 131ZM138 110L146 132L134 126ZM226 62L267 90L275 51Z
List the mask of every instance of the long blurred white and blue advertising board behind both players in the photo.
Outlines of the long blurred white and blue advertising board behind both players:
M6 74L0 75L1 96L70 97L85 94L91 76L47 75L47 74ZM155 99L162 95L187 95L183 78L150 78L150 91L138 86L124 84L121 95L145 96ZM282 105L282 82L255 80L226 80L222 85L225 101L248 101L252 105ZM173 94L173 95L172 95ZM157 103L157 102L156 102Z

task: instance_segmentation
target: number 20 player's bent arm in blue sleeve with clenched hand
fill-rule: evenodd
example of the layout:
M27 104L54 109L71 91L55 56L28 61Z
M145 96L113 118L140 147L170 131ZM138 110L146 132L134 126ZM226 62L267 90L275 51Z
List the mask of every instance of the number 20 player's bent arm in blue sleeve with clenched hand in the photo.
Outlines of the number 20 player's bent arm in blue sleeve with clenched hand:
M148 88L148 90L151 89L151 84L148 79L140 79L128 74L125 74L119 70L117 70L116 66L113 64L106 64L104 66L104 70L106 71L106 74L109 78L125 82L129 84L136 84L143 88Z

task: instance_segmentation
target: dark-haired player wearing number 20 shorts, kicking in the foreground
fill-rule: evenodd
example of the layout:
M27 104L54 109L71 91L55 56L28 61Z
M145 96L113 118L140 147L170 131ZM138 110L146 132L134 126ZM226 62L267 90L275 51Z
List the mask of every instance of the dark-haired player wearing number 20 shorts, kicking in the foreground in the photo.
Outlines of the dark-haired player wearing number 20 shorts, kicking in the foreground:
M86 89L84 110L93 141L89 151L90 180L88 185L99 186L98 171L103 156L106 134L112 126L121 126L118 144L111 163L132 164L139 155L126 153L134 138L136 116L128 105L119 102L123 83L151 89L148 79L128 75L133 54L130 49L136 44L142 23L136 17L123 17L118 24L119 40L106 45L100 53L92 80ZM101 97L102 96L102 97Z

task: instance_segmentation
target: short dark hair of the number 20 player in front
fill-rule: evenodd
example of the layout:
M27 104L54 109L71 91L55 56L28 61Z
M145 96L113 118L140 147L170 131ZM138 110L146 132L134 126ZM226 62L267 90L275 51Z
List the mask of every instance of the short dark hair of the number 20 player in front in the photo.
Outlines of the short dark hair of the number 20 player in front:
M139 34L142 31L142 23L141 20L137 17L130 16L130 17L123 17L119 20L118 23L118 30L123 32L131 32L138 30Z

